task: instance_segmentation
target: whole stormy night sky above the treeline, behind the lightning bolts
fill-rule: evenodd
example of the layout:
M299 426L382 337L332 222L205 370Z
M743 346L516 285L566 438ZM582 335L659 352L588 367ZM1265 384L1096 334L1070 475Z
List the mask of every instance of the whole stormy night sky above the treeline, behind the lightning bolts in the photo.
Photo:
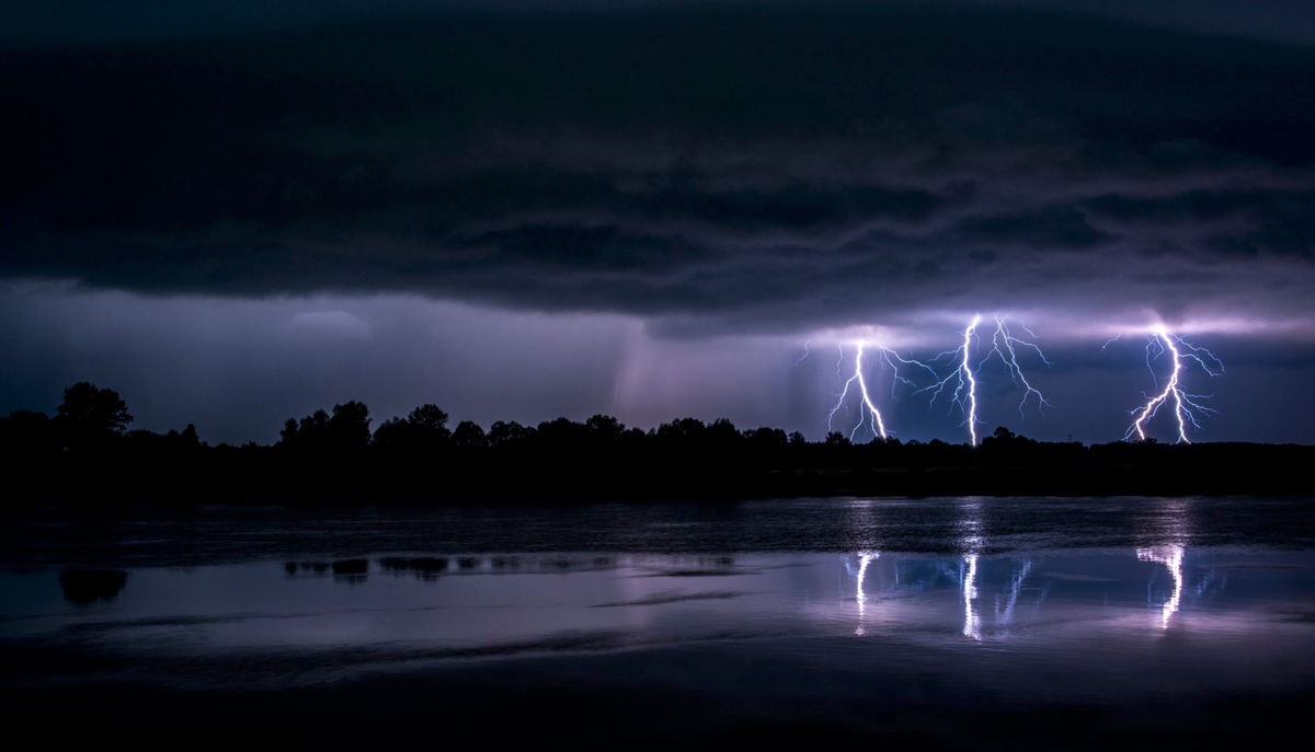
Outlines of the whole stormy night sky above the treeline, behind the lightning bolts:
M1044 413L981 367L988 431L1122 438L1165 326L1224 364L1191 440L1315 443L1315 5L362 5L0 9L0 413L91 380L212 443L346 400L817 439L842 347L981 314L974 365L995 316L1052 362ZM967 439L865 375L896 436Z

